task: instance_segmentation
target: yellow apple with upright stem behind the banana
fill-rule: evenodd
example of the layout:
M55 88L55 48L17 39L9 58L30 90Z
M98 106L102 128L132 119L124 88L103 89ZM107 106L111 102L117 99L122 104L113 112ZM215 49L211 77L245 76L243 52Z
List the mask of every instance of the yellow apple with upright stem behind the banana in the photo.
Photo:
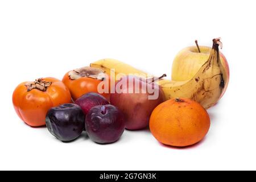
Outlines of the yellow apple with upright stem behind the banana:
M174 62L172 63L172 80L187 81L199 71L202 65L208 60L211 47L199 46L200 53L196 46L191 46L182 49L177 53ZM226 57L220 52L220 61L226 71L226 84L221 94L221 97L228 88L229 83L229 64Z

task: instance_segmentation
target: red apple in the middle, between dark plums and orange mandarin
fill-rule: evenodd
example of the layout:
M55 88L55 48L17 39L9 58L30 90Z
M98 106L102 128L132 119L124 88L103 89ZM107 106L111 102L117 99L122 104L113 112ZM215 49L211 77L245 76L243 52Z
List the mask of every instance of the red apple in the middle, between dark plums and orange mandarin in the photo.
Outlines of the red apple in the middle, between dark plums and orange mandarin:
M152 111L163 101L164 93L157 84L135 76L122 77L110 94L110 103L122 111L128 130L147 127Z

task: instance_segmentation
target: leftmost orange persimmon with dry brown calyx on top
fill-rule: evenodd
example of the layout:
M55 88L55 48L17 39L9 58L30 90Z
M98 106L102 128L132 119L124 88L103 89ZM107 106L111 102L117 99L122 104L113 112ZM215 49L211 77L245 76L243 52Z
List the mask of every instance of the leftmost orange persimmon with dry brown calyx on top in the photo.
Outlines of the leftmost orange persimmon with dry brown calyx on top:
M16 113L32 127L46 125L46 114L51 107L70 102L71 94L67 86L51 77L23 82L13 93Z

